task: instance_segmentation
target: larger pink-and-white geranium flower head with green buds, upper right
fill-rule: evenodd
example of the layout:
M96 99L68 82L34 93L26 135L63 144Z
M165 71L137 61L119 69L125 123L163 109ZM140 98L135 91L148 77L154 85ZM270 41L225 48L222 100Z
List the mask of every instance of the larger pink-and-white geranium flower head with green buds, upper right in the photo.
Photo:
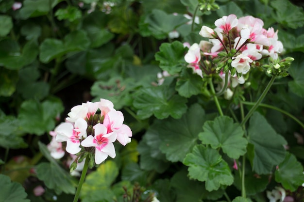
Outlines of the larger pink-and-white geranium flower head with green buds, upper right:
M226 75L227 78L240 79L237 83L244 83L245 75L251 66L264 67L274 76L287 76L287 68L292 58L280 62L278 54L283 51L283 44L278 40L278 31L273 28L263 28L263 21L253 16L244 16L237 19L236 15L223 16L215 21L215 29L202 26L199 34L208 41L202 40L199 44L188 46L185 55L187 67L193 72L204 76L214 73ZM263 66L262 60L274 65ZM224 81L224 79L222 78Z

